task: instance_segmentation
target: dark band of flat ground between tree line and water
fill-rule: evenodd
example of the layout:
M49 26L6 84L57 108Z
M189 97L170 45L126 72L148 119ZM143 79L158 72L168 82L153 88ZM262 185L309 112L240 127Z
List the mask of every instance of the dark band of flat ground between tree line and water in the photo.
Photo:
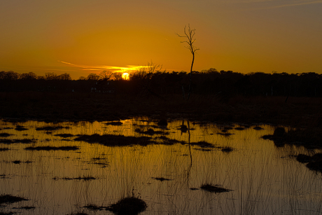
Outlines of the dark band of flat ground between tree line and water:
M315 97L130 97L97 93L1 92L0 118L18 120L122 120L135 116L188 118L213 123L269 123L322 127Z

